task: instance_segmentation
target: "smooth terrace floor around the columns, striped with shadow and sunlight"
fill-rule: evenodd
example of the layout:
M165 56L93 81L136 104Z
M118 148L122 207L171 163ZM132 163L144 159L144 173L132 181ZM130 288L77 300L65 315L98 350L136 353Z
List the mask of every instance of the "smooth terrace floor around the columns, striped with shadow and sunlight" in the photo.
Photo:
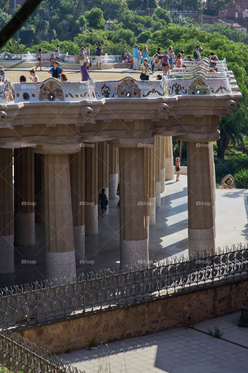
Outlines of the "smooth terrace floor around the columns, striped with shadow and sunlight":
M175 175L174 175L175 176ZM216 247L237 244L248 240L247 211L244 198L247 189L216 189ZM109 214L99 216L98 235L85 237L86 259L94 264L76 262L77 273L94 269L113 268L120 260L118 198L110 200ZM163 260L186 254L188 235L187 175L180 182L165 183L161 194L161 207L156 209L156 225L149 231L149 260ZM15 247L15 272L0 275L0 288L45 279L44 223L35 224L35 245ZM36 260L36 264L22 264L23 259Z

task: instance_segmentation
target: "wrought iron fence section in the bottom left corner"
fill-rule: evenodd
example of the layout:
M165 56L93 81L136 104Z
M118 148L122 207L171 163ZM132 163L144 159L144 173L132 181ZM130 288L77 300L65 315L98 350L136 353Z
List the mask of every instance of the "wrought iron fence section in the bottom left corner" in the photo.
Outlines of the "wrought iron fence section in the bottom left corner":
M85 373L7 329L0 329L0 362L23 373Z

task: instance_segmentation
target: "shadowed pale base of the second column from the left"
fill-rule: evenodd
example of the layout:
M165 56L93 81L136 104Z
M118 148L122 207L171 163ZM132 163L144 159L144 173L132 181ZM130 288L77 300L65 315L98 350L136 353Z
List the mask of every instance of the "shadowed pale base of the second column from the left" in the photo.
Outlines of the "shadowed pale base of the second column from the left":
M35 243L35 213L15 214L15 245L28 246Z

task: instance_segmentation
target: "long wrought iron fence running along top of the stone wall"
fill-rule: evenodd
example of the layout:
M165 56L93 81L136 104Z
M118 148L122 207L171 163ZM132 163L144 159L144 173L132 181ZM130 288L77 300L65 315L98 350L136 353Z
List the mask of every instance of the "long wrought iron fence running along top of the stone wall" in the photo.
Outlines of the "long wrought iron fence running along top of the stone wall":
M175 257L163 263L133 270L104 270L73 283L65 279L35 282L26 288L0 291L0 325L41 322L124 304L171 295L192 286L248 275L248 243L232 245L217 253L197 254L194 258Z

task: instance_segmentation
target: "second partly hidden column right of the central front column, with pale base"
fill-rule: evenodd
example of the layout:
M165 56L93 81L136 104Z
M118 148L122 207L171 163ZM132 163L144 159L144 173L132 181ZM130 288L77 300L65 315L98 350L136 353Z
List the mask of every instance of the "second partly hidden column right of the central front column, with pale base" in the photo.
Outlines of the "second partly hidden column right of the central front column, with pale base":
M150 206L149 206L149 226L155 225L156 210L156 149L155 144L150 148Z

